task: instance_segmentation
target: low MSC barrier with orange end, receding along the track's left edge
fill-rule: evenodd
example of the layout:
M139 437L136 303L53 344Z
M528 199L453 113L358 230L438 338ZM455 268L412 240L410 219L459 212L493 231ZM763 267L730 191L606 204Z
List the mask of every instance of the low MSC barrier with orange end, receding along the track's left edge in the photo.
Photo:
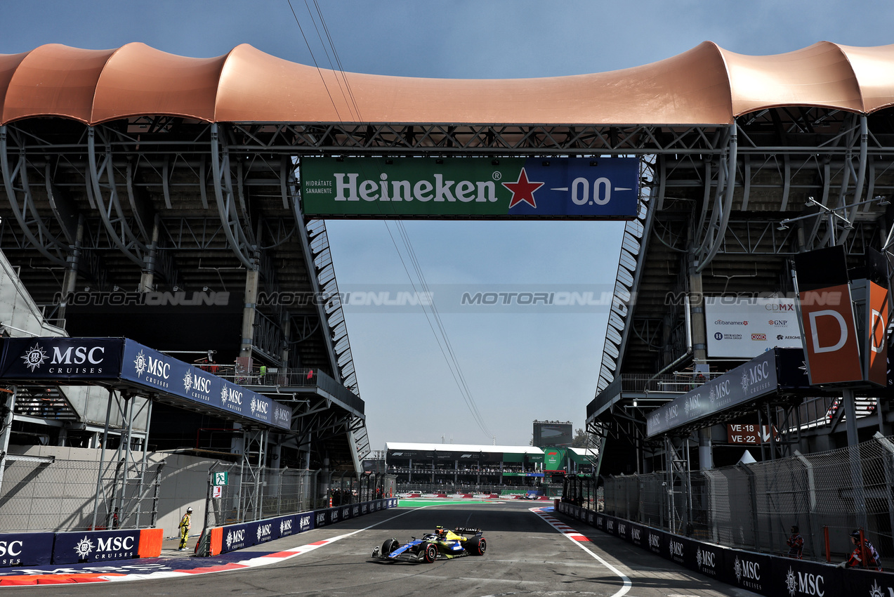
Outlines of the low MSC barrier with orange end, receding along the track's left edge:
M265 518L238 525L215 526L209 533L202 533L196 552L200 556L216 556L219 553L237 551L292 534L304 533L314 528L334 525L349 518L360 517L381 509L395 508L397 498L346 504L335 508L300 512L284 517Z

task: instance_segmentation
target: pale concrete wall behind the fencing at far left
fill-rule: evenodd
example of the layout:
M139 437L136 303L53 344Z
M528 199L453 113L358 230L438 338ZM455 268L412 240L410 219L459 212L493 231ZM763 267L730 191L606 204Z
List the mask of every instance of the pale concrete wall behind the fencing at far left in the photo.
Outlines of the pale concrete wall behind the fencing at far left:
M9 530L53 527L87 527L93 517L97 463L100 450L58 446L10 446L11 454L54 456L55 462L44 467L12 462L5 469L0 487L0 528ZM114 451L106 451L106 462ZM215 460L181 454L151 453L148 470L165 460L158 494L156 526L164 536L175 536L187 507L192 507L191 534L202 530L208 470ZM147 481L149 479L147 478ZM151 509L148 502L143 511ZM141 518L148 526L149 517ZM105 525L105 509L100 506L97 526Z

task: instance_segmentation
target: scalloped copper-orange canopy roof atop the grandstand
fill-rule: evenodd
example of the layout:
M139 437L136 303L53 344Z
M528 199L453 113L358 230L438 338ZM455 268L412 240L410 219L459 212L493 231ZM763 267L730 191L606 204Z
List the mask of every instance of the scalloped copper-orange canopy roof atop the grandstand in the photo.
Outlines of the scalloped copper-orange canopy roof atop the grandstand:
M344 79L353 102L342 91ZM819 42L749 56L704 42L621 71L510 80L342 75L246 44L217 58L140 43L116 50L50 44L0 55L2 124L34 116L96 124L170 114L207 122L686 125L729 124L782 105L869 114L892 104L894 45Z

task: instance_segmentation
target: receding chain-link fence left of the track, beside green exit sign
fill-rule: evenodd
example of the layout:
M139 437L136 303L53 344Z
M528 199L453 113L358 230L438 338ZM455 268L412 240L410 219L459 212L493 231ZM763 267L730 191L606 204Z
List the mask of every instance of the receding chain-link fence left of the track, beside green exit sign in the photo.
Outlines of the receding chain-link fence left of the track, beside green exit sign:
M391 497L394 475L252 468L218 463L208 472L205 526L232 525Z

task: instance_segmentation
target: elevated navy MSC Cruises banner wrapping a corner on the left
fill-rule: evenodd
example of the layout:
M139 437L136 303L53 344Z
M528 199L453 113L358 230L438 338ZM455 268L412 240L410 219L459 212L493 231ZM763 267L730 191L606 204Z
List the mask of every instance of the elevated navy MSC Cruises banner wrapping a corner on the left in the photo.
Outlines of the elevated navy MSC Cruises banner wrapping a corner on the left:
M124 338L9 338L3 341L0 379L46 380L140 389L226 410L282 429L291 409L255 391L227 382L176 358Z

